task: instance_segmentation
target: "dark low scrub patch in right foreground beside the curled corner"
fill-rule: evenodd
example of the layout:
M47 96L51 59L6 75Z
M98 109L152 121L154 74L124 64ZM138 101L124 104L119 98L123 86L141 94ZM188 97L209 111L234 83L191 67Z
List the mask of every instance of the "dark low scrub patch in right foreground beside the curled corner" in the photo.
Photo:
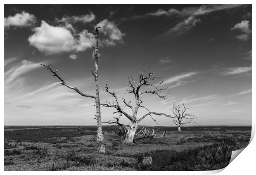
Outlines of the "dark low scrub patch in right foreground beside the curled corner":
M178 152L157 150L137 155L137 170L217 170L228 165L235 144L232 142L204 146ZM143 157L151 156L151 165L142 165Z

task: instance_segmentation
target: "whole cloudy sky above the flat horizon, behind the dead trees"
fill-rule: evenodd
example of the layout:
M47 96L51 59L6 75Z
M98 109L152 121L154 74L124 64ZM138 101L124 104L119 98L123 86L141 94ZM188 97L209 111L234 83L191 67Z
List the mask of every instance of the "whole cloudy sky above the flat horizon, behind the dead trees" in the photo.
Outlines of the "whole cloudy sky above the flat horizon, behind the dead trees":
M94 95L95 26L102 27L102 103L111 100L107 83L121 106L122 97L133 104L127 77L138 81L149 67L170 91L166 99L142 96L150 111L173 115L173 103L184 103L201 125L251 125L251 5L5 5L4 13L5 125L96 126L94 99L40 65L52 63L67 84ZM118 116L114 111L101 107L102 121ZM145 113L140 109L138 118ZM157 125L151 117L139 124Z

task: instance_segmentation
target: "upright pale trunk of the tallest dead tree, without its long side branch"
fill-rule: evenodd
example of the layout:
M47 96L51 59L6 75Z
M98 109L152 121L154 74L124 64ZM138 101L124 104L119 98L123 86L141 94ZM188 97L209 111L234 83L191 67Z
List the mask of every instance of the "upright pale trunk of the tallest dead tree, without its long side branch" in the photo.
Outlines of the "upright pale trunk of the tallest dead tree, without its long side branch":
M101 126L101 114L100 114L100 95L99 95L99 82L98 82L98 30L96 28L96 44L94 47L94 58L95 58L95 84L96 84L96 95L95 95L95 104L96 104L96 119L97 119L97 141L100 152L105 152L104 136L102 134Z

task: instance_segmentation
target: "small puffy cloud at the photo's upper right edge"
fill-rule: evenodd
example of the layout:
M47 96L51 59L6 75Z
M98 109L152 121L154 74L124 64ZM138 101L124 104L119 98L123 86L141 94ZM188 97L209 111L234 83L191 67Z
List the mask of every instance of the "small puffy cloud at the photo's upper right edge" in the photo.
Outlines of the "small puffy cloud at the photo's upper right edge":
M241 35L237 35L236 38L241 41L247 41L249 39L249 35L251 35L251 29L249 28L250 21L244 20L241 23L237 23L234 25L234 27L231 28L231 31L233 30L239 30L242 32Z

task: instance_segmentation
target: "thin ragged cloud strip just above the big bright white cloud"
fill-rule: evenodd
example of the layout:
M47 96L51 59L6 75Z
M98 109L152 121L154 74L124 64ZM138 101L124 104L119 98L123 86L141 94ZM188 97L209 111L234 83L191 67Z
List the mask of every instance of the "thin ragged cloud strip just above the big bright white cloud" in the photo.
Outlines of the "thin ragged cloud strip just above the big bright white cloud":
M90 14L80 15L80 16L63 16L62 19L56 20L57 22L62 23L90 23L95 20L95 15L90 12Z

